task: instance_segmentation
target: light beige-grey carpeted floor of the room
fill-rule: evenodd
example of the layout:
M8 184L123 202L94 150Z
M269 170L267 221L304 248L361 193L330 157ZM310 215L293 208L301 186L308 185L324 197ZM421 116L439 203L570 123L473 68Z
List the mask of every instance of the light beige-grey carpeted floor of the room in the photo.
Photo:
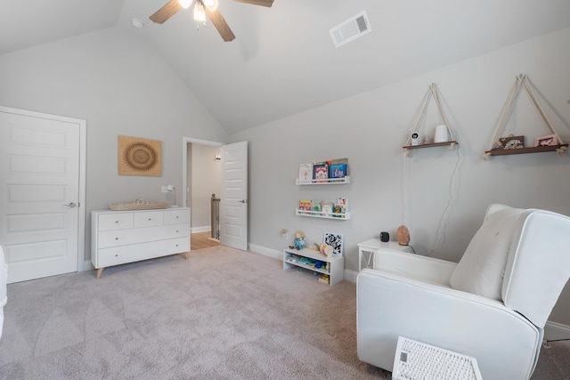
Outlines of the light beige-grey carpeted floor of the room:
M4 317L6 379L390 378L356 357L354 283L228 247L12 284ZM533 379L570 378L569 354Z

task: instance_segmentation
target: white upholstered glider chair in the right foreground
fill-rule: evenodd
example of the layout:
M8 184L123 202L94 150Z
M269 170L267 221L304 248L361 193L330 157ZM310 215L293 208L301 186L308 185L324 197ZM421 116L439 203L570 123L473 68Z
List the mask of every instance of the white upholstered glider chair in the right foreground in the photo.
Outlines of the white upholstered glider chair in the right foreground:
M360 360L393 370L398 336L477 360L485 380L528 379L570 277L570 218L492 205L460 263L379 249L356 281Z

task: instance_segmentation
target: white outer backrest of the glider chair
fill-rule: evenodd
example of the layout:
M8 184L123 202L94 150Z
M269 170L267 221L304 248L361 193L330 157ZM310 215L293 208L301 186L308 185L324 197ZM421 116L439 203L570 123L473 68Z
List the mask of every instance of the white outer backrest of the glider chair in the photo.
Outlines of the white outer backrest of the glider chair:
M570 217L527 209L509 248L502 300L537 327L544 327L570 278Z

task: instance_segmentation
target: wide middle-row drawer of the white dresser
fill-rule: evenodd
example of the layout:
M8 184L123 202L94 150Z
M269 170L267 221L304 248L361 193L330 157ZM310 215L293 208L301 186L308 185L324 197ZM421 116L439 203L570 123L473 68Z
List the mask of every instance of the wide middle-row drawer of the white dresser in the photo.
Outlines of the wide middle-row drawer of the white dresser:
M148 241L175 239L190 235L190 224L172 224L130 230L104 230L99 233L98 247L118 247Z

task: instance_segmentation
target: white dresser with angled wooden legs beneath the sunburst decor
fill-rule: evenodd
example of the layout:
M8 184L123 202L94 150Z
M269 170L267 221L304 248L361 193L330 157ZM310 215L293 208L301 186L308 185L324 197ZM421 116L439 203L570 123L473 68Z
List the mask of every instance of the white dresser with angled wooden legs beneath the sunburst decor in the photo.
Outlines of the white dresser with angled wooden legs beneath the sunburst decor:
M91 212L91 263L105 267L190 251L190 208Z

